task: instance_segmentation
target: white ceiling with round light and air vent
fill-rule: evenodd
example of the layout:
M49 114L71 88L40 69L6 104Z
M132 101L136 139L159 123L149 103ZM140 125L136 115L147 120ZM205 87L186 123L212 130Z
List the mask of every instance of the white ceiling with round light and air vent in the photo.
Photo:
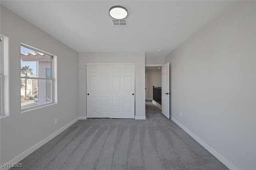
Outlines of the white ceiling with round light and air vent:
M0 2L78 52L145 52L164 57L235 1ZM110 7L128 10L128 28L112 28ZM157 50L162 49L161 53Z

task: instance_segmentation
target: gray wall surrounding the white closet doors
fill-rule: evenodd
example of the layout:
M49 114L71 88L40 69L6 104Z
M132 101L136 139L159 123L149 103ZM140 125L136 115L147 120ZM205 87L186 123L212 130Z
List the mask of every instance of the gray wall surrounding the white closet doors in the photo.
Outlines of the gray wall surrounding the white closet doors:
M80 117L86 117L86 63L135 63L135 119L146 118L145 53L79 53Z

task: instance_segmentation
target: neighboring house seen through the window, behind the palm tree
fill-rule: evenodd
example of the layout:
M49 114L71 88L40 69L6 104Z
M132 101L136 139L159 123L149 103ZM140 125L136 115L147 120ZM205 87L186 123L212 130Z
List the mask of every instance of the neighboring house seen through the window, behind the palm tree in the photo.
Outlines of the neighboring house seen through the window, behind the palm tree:
M52 101L52 82L44 79L33 79L33 78L50 78L51 71L51 60L50 56L38 51L30 51L20 53L21 62L31 62L31 65L36 65L37 74L29 74L27 79L27 90L26 96L38 95L38 104L44 104ZM29 66L27 64L27 66ZM31 68L31 66L30 66ZM21 74L21 77L25 75ZM24 87L21 87L21 95L25 96L25 78L21 78ZM42 87L42 88L40 88Z

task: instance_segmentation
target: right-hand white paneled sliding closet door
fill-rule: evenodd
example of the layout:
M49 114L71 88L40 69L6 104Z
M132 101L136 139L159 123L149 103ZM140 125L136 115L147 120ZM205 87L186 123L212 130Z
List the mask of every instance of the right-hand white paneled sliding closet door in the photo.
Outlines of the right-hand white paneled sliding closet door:
M110 118L130 118L135 116L135 66L110 66Z

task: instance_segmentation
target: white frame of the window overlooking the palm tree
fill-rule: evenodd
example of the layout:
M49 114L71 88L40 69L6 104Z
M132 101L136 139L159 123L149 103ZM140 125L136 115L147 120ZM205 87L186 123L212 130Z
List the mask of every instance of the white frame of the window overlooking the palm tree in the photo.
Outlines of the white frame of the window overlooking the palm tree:
M32 79L34 79L34 80L52 80L52 102L49 102L49 103L46 103L46 104L41 104L41 105L37 105L37 106L32 106L32 107L28 107L28 108L25 108L25 109L21 109L21 111L27 111L27 110L31 110L31 109L36 109L36 108L38 108L38 107L42 107L42 106L47 106L47 105L51 105L51 104L55 104L56 102L55 102L55 96L54 96L54 88L55 88L55 85L54 85L54 58L55 58L55 56L54 55L52 55L52 54L50 54L50 53L47 53L47 52L45 52L45 51L42 51L42 50L39 50L39 49L37 49L37 48L34 48L34 47L32 47L32 46L30 46L30 45L26 45L26 44L24 44L24 43L20 43L20 46L23 46L23 47L26 47L26 48L28 48L28 49L32 49L32 50L34 50L34 51L37 51L37 52L39 52L39 53L43 53L43 54L45 54L45 55L49 55L50 57L51 57L51 61L50 61L50 68L51 68L51 78L40 78L40 77L33 77L33 78L31 78L31 77L22 77L22 76L20 76L20 78L27 78L27 79L31 79L31 84L32 84ZM45 86L45 88L46 88L46 86Z

